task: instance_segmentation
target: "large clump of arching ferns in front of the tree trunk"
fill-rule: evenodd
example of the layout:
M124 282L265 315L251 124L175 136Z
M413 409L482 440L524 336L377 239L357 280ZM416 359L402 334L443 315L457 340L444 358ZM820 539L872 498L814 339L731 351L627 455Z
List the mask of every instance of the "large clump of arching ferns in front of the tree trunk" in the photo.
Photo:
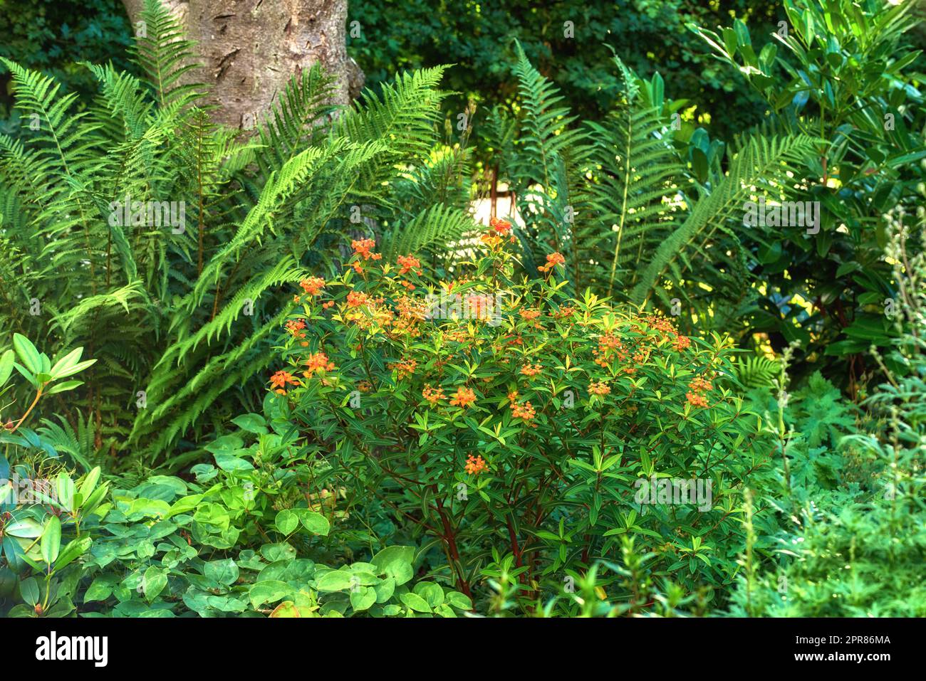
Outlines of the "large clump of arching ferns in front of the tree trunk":
M99 95L85 111L2 60L38 126L0 135L0 323L98 359L69 423L93 430L82 456L131 443L176 467L201 455L189 436L253 410L283 291L336 266L347 232L426 251L472 223L466 153L435 130L444 68L400 74L334 121L312 68L246 141L197 108L176 20L156 0L144 19L144 77L86 65Z

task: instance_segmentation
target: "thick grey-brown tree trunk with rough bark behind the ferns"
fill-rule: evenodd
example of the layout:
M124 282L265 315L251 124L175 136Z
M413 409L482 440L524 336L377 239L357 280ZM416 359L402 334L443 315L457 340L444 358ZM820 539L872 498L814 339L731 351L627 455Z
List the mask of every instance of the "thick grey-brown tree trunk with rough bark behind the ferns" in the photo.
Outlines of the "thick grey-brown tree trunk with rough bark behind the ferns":
M134 24L144 0L122 0ZM194 79L210 87L212 117L249 130L286 82L320 63L336 78L335 104L346 105L363 86L363 72L347 56L347 0L161 0L197 45L205 68Z

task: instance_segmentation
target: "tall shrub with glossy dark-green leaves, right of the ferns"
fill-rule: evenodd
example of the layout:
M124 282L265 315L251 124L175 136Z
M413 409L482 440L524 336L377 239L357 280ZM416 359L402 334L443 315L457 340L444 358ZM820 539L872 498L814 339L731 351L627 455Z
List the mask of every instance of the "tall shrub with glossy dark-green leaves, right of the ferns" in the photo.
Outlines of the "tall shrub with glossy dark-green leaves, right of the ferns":
M743 229L751 275L764 282L744 321L776 349L801 341L807 360L855 396L871 343L894 337L883 314L895 297L882 215L922 200L926 179L920 50L909 47L915 3L785 0L787 21L760 51L742 20L696 28L721 62L765 100L776 128L815 138L793 168L792 198L817 202L819 233ZM832 365L833 357L848 361ZM795 365L799 374L816 367ZM899 367L893 367L894 370Z

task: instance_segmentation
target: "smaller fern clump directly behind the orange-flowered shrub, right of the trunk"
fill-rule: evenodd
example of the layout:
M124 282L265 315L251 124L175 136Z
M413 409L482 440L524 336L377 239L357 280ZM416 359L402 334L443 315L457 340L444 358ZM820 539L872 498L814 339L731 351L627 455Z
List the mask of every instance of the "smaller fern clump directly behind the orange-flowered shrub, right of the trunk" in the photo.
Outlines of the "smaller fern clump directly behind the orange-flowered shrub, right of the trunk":
M623 101L604 121L570 130L556 88L519 54L522 113L512 121L495 111L492 121L525 265L542 263L544 252L569 254L578 290L683 306L689 326L732 330L757 298L736 229L744 206L788 196L814 138L757 130L726 146L724 164L723 148L703 135L673 139L683 103L665 100L658 74L641 80L618 56L614 63Z

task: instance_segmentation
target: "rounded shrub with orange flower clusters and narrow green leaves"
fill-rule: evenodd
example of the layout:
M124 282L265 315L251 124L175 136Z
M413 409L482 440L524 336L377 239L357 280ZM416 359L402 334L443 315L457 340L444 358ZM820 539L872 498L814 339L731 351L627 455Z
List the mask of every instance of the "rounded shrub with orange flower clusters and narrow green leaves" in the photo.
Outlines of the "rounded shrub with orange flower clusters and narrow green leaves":
M451 281L365 240L338 279L303 282L270 383L314 459L311 492L344 489L344 523L379 499L436 540L434 571L467 595L504 573L531 608L626 539L652 552L649 576L729 583L738 495L770 452L724 387L729 341L569 298L560 254L513 280L509 230L494 220Z

